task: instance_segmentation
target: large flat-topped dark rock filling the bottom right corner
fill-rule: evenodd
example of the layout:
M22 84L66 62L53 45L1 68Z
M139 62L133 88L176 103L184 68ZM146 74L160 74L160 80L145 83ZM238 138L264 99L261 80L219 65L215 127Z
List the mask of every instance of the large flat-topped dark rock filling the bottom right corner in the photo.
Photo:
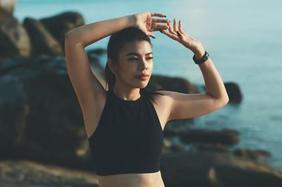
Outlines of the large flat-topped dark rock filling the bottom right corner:
M166 187L282 186L282 172L278 169L224 152L163 155L161 176Z

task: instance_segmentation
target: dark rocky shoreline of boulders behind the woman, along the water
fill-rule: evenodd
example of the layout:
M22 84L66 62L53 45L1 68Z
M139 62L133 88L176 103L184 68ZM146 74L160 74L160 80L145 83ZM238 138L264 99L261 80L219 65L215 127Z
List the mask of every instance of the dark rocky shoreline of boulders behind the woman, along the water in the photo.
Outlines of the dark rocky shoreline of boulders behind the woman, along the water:
M66 12L20 23L11 10L0 4L0 186L97 186L82 111L63 56L64 34L84 24L82 15ZM99 59L105 53L87 51L104 86ZM240 105L239 86L224 85L228 105ZM187 79L166 75L152 75L147 88L200 93ZM166 187L282 186L282 172L265 164L271 157L267 150L231 151L240 141L238 131L168 123L161 155ZM173 137L181 144L171 143Z

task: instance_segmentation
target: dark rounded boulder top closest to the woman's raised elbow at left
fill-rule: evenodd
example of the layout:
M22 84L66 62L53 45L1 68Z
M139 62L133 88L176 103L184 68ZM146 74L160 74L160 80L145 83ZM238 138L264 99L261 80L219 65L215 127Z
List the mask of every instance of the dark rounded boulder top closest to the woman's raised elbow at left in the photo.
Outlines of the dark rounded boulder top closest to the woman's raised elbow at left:
M57 41L59 41L63 47L63 51L65 50L64 46L66 32L85 24L82 15L72 11L59 13L49 18L42 18L40 19L40 22L42 22L44 27L51 33L51 35Z

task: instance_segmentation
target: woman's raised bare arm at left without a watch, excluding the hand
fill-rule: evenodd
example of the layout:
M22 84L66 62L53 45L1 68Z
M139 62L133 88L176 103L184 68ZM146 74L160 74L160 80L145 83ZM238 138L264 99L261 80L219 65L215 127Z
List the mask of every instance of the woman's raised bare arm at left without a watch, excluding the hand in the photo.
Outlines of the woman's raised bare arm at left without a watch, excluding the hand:
M65 34L65 56L68 76L80 103L87 136L94 131L93 127L106 102L106 91L93 74L85 46L99 41L118 30L132 25L133 15L92 22L75 27Z

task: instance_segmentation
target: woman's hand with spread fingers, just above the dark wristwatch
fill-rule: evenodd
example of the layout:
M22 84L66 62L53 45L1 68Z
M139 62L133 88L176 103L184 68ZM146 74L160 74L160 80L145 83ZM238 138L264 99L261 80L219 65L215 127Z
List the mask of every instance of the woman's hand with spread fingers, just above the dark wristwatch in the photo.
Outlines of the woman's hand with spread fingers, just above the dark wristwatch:
M186 34L183 32L182 29L182 23L178 22L178 29L176 27L176 19L173 19L173 30L171 29L171 22L168 21L168 31L160 30L159 32L166 34L168 37L171 37L172 39L175 39L176 41L179 41L180 44L183 44L183 46L187 47L191 51L199 51L202 49L202 43L198 41L197 39L191 37L189 34Z

